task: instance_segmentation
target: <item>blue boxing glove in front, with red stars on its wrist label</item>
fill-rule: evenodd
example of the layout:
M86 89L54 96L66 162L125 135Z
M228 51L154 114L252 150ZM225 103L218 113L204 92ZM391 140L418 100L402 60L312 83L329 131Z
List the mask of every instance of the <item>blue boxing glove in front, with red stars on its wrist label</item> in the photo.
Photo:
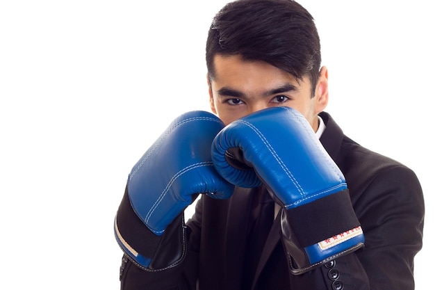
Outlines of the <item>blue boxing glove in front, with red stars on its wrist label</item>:
M263 183L281 205L292 273L305 273L363 246L345 178L295 109L266 108L232 122L217 134L212 159L229 182L242 187Z

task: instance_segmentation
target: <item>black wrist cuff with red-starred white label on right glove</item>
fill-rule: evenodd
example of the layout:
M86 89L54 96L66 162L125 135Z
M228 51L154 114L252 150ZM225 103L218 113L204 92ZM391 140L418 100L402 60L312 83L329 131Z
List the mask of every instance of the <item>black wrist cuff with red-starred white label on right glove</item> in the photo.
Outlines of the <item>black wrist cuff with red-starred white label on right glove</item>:
M281 213L292 273L300 274L363 246L363 231L346 190Z

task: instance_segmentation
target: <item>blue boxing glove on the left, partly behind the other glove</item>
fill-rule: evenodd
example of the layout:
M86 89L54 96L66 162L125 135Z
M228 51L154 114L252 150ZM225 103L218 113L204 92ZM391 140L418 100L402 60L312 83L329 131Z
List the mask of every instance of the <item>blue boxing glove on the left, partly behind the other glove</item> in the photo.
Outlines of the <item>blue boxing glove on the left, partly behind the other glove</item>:
M217 174L211 161L211 143L223 127L211 113L185 113L133 166L115 218L115 237L140 268L156 271L181 261L183 210L197 195L232 195L234 186Z

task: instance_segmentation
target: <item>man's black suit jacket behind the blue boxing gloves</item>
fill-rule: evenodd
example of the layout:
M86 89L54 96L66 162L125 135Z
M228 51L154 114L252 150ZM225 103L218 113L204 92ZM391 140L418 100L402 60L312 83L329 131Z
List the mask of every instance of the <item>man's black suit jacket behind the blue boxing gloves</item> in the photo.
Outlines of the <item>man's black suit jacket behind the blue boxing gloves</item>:
M277 218L261 253L252 289L414 289L413 258L422 247L425 210L416 175L401 163L344 136L327 113L320 116L326 124L320 141L345 175L365 235L365 248L308 273L292 275ZM265 188L236 188L228 200L203 195L187 223L185 259L154 273L124 259L122 287L244 289L249 213L252 197L260 191Z

